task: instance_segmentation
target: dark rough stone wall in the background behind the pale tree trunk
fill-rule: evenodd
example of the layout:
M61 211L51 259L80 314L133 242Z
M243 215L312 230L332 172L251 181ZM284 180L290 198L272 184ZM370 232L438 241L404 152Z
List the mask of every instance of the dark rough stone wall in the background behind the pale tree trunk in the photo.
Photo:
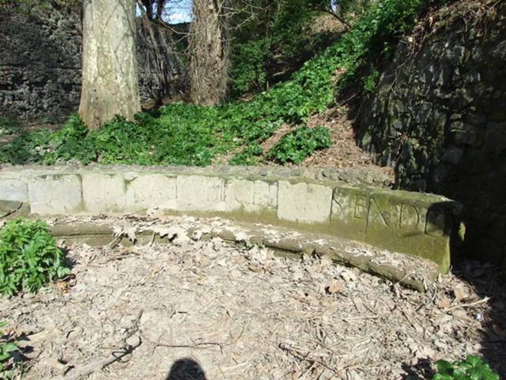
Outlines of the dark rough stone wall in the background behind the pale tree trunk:
M165 80L161 80L153 44L141 20L137 21L142 101L179 94L182 69L168 47L171 32L153 26L164 68ZM1 116L51 121L77 111L81 88L81 24L80 7L34 7L28 13L0 5Z

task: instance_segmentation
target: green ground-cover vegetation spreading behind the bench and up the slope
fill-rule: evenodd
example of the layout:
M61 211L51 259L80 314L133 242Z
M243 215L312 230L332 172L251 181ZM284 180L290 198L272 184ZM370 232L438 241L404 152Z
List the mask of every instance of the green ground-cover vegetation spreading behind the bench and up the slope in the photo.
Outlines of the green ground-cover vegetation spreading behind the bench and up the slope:
M378 67L391 58L399 38L413 28L420 13L441 3L379 0L290 79L249 102L207 107L174 103L139 113L136 122L117 117L94 132L75 115L56 132L27 132L0 119L0 141L5 142L0 162L207 165L227 152L230 164L301 162L330 145L328 130L310 128L308 118L323 112L350 88L358 93L372 91ZM297 128L262 155L260 144L283 124Z

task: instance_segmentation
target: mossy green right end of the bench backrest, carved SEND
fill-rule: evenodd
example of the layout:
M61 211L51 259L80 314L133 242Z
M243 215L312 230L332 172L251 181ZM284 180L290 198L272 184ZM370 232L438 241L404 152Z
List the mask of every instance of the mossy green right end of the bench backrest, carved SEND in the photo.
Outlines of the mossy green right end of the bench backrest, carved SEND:
M406 191L336 188L331 232L374 246L420 256L447 272L455 202Z

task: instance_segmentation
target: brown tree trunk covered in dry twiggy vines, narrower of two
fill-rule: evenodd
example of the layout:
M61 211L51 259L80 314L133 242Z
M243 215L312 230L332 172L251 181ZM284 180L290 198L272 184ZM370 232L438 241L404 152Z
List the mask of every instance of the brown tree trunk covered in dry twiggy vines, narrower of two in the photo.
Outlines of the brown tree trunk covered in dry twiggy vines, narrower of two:
M212 105L227 92L228 43L224 0L194 0L188 37L190 98Z

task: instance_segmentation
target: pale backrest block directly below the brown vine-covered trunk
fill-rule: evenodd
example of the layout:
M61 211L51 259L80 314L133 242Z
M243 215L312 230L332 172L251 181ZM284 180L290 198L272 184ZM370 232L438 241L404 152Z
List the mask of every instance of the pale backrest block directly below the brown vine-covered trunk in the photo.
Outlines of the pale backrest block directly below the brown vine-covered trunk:
M178 210L222 211L225 181L219 177L178 176L177 195Z

